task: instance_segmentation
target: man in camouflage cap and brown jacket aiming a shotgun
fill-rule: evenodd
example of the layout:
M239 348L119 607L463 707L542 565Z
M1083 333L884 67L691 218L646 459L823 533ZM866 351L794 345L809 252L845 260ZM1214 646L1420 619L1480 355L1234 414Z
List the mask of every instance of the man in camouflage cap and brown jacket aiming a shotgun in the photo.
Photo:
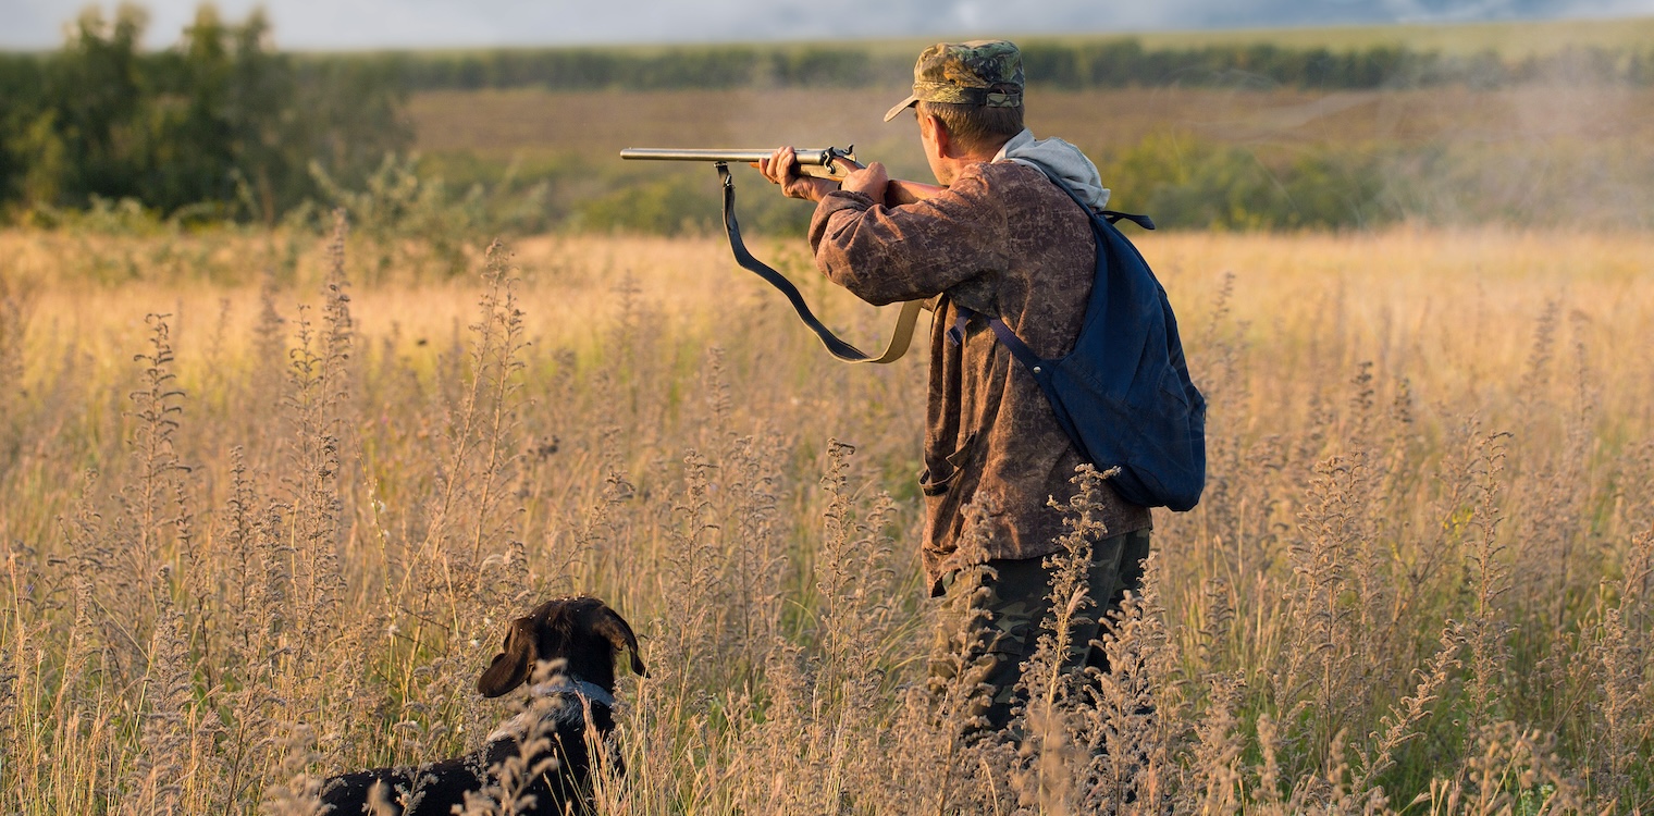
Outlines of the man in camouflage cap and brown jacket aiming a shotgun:
M915 109L925 157L946 187L926 200L887 207L888 175L878 162L842 185L801 177L791 147L759 167L786 195L819 202L809 238L832 281L873 305L935 298L920 477L925 571L931 594L946 596L938 646L963 652L973 679L981 674L991 687L966 712L968 722L992 730L1004 730L1021 703L1021 664L1050 609L1044 559L1060 550L1064 533L1050 498L1073 495L1070 478L1083 458L1032 376L984 321L1002 318L1040 358L1067 354L1085 318L1097 243L1087 214L1037 166L1093 209L1108 199L1078 149L1035 141L1024 129L1022 91L1022 55L1012 43L939 43L920 55L913 96L885 121ZM961 321L961 308L978 318ZM1150 511L1103 490L1108 538L1093 546L1090 591L1098 604L1115 606L1141 578ZM976 535L986 535L992 571L961 569L966 505L984 511ZM987 614L973 616L981 611ZM951 641L968 619L981 622L966 642ZM1098 624L1073 634L1087 649ZM1103 665L1098 649L1083 659ZM933 684L946 685L956 665L933 662Z

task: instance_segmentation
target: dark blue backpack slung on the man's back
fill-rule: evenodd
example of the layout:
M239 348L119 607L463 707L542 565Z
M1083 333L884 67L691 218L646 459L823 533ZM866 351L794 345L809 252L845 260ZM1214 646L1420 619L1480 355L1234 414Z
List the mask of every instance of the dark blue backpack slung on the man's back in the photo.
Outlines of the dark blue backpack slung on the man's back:
M1050 180L1092 217L1097 281L1085 323L1065 358L1040 359L999 318L989 328L1034 376L1080 455L1118 467L1110 483L1133 505L1191 510L1206 488L1206 397L1189 381L1166 290L1143 255L1115 228L1145 215L1097 212L1062 180ZM963 311L961 321L971 313Z

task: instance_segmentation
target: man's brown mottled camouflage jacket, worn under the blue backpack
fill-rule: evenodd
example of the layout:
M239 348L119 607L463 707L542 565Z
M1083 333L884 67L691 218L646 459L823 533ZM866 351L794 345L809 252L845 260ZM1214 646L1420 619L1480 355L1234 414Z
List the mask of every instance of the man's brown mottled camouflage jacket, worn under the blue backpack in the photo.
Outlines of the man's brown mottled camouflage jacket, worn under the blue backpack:
M1062 511L1083 462L1034 377L981 321L948 338L959 306L1004 318L1042 358L1073 348L1092 290L1097 243L1083 212L1037 169L976 164L941 195L885 207L832 192L810 218L815 265L858 298L936 298L925 417L925 571L931 593L958 569L961 508L987 511L989 558L1060 550ZM1111 490L1108 535L1150 526L1148 508Z

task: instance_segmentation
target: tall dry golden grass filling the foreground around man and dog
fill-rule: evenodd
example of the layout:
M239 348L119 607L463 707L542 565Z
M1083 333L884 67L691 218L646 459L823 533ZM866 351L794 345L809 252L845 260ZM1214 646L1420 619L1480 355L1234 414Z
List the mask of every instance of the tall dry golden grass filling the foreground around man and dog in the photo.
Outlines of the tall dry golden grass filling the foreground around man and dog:
M309 813L475 746L503 622L566 591L652 667L604 813L1654 806L1646 237L1143 238L1211 485L1102 677L1062 670L1082 492L1022 745L948 727L968 665L923 694L923 362L829 361L723 247L352 286L344 225L284 268L202 238L230 278L61 240L0 235L0 811Z

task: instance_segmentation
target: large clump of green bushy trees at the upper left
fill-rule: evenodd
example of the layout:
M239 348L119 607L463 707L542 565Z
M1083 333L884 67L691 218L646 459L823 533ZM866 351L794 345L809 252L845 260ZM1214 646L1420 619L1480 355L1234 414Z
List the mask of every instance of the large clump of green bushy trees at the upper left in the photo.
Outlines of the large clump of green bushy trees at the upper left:
M160 51L141 50L146 25L136 5L94 7L63 48L0 55L0 207L131 199L268 223L412 141L397 76L275 51L261 10L233 25L202 5Z

